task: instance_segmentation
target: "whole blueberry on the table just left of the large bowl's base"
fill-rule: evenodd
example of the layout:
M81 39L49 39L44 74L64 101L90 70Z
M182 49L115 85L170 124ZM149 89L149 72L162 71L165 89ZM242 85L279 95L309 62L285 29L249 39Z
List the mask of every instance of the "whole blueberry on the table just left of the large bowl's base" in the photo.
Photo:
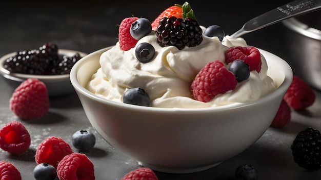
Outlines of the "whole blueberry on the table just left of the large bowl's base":
M86 130L78 130L71 137L72 145L79 151L89 151L95 146L95 135Z

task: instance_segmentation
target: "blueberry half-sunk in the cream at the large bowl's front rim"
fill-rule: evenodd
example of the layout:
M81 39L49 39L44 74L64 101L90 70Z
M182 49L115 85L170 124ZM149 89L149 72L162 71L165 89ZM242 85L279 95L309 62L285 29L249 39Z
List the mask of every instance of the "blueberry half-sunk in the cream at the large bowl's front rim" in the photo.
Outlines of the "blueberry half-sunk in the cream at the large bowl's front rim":
M123 103L138 106L149 106L150 99L144 89L132 88L124 93Z

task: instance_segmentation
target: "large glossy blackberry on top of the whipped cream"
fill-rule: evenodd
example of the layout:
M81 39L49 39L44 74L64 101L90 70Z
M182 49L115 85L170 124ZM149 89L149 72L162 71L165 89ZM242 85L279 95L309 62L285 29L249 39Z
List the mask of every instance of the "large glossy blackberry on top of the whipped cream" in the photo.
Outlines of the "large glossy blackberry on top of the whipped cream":
M194 47L203 41L203 31L192 18L164 17L156 29L157 43L161 47L175 46L179 50Z

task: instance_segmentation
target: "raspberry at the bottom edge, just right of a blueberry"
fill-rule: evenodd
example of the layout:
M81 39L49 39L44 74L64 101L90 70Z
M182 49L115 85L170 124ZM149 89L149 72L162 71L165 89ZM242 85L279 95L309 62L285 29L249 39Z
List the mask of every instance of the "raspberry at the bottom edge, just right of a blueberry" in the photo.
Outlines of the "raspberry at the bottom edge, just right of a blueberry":
M72 153L59 162L57 175L59 179L68 180L95 179L94 165L85 154Z

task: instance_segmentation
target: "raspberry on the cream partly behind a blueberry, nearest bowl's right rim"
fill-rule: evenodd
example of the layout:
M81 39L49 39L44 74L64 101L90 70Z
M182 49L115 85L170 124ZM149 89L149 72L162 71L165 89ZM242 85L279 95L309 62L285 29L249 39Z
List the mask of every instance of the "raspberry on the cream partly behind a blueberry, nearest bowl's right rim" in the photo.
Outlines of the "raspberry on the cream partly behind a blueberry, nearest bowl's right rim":
M256 70L259 72L261 70L262 61L261 54L258 49L248 46L248 47L230 47L225 52L225 63L229 64L236 59L243 60L246 64L250 66L250 71Z

